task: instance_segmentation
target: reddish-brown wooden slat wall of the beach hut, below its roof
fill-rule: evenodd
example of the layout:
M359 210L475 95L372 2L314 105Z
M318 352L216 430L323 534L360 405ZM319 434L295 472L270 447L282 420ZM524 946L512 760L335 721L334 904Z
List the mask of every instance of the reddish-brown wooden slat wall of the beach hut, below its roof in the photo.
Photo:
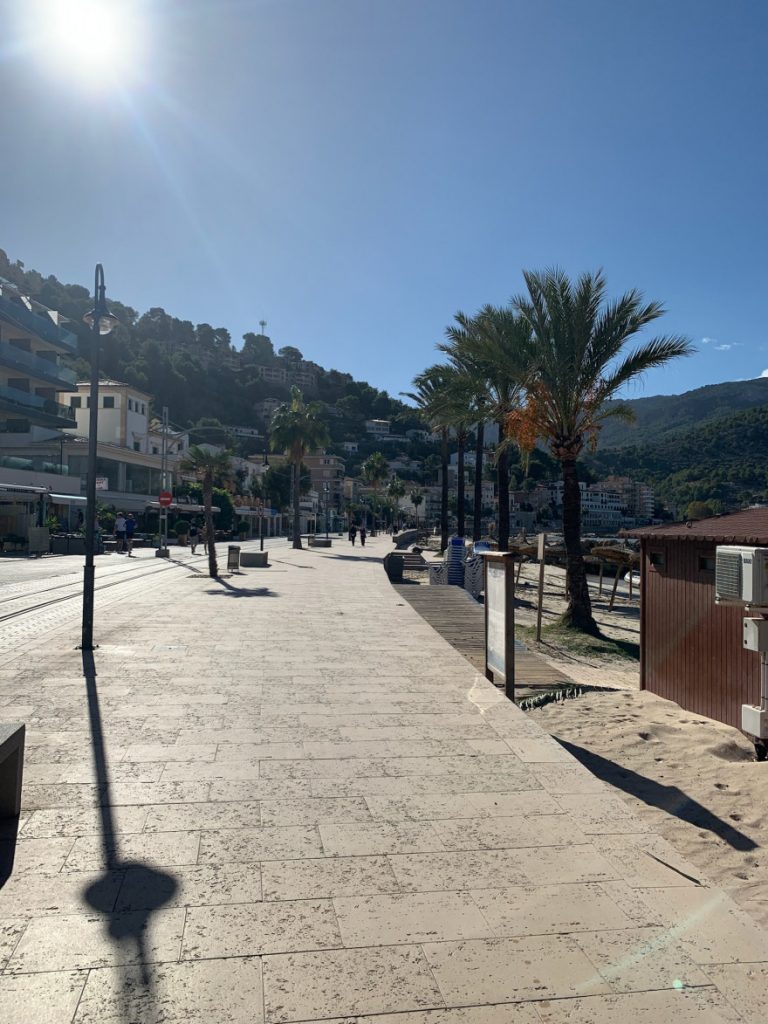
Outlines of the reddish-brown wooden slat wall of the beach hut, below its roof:
M664 568L650 564L665 556ZM646 689L687 711L741 727L741 705L760 701L760 655L741 646L743 611L715 604L715 573L700 556L715 545L643 542L643 680Z

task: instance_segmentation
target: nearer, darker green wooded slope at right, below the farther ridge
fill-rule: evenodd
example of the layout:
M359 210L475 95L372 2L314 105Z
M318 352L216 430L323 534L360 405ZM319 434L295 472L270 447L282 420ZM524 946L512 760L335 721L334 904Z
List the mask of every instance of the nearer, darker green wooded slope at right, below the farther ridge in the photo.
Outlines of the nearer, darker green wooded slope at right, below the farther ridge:
M743 386L721 384L699 392ZM709 502L712 511L720 512L766 501L767 452L768 404L763 404L693 429L668 431L641 444L608 449L601 443L587 465L597 477L615 473L649 483L682 515L691 502Z

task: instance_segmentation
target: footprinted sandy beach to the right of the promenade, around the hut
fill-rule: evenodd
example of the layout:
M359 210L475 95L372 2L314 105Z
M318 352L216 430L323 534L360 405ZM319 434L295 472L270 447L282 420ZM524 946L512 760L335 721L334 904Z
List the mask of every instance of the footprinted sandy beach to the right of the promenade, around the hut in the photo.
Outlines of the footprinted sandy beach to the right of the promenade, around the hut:
M521 626L536 624L537 580L538 566L524 565ZM564 571L548 568L546 581L545 624L564 608ZM594 608L601 630L638 643L637 598L617 597L608 611L609 584L604 590ZM755 762L736 729L640 691L637 663L569 654L559 640L545 641L525 642L574 681L605 689L528 714L700 868L700 881L722 887L768 926L768 763Z

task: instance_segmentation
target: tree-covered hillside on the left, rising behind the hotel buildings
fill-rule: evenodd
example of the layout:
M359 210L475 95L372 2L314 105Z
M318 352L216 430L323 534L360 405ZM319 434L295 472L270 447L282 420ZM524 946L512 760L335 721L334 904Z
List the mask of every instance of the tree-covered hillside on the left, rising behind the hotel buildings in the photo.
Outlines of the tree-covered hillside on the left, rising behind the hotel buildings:
M89 342L83 314L93 304L89 290L27 270L23 263L9 260L2 250L0 278L70 318L68 327L81 340L81 357L76 369L86 377ZM154 397L155 412L167 406L171 421L179 426L188 427L201 419L262 426L256 402L268 397L287 399L290 381L264 381L259 376L259 366L285 368L289 376L299 368L308 370L314 385L305 387L307 397L326 403L329 428L337 442L356 440L365 433L366 419L396 418L395 432L421 425L413 410L386 391L366 381L355 381L350 374L306 364L299 349L293 346L287 345L275 352L263 335L246 334L242 349L237 349L224 327L191 324L162 308L138 313L112 298L110 307L120 325L104 339L102 375L146 391Z

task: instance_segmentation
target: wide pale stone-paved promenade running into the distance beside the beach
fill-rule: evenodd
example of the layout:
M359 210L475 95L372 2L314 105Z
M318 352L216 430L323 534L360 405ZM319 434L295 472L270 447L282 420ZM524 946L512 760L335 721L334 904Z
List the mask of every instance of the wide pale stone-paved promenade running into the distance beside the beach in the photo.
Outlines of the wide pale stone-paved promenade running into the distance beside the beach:
M178 567L0 665L12 1024L757 1024L768 935L365 549ZM7 829L4 834L7 837Z

